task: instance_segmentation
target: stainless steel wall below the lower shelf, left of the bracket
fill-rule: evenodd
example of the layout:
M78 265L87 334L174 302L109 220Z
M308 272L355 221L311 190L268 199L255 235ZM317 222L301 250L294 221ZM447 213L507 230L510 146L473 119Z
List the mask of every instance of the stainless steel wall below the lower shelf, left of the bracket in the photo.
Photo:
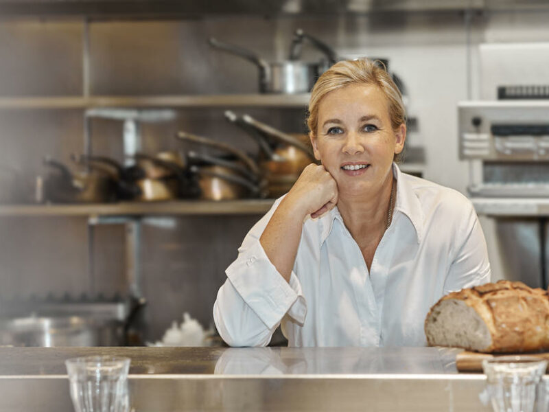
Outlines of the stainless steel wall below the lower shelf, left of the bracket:
M127 295L124 227L95 227L94 237L90 261L86 218L0 219L0 299Z

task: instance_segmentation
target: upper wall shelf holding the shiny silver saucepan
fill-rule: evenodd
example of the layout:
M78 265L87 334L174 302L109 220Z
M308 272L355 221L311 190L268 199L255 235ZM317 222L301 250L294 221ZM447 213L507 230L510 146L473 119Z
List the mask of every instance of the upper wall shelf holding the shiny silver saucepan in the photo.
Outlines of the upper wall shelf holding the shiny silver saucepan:
M309 103L309 94L234 94L234 95L160 95L160 96L54 96L0 98L0 109L62 108L179 108L179 107L295 107Z

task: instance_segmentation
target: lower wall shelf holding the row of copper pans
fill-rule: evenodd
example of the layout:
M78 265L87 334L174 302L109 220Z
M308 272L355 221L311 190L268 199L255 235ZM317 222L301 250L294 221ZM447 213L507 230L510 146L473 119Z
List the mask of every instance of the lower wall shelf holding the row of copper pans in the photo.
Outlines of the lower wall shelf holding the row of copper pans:
M274 199L238 201L173 201L90 205L0 205L0 216L172 216L264 214Z

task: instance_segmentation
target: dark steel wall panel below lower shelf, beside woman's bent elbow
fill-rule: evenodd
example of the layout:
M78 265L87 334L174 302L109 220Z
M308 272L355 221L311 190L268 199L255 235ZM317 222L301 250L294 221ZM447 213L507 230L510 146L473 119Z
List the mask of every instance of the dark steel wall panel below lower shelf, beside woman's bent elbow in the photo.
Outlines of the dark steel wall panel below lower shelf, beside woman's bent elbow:
M208 328L225 269L258 216L148 218L143 222L141 268L149 341L161 339L183 312Z

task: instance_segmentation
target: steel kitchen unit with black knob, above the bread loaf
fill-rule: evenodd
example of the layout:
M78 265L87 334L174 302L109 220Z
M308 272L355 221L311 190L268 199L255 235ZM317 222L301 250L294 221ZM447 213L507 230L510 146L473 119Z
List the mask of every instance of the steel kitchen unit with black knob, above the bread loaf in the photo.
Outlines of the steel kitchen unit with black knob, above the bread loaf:
M458 104L459 154L469 194L494 219L496 276L548 286L549 100ZM489 238L489 236L487 236ZM497 260L497 262L496 262Z

